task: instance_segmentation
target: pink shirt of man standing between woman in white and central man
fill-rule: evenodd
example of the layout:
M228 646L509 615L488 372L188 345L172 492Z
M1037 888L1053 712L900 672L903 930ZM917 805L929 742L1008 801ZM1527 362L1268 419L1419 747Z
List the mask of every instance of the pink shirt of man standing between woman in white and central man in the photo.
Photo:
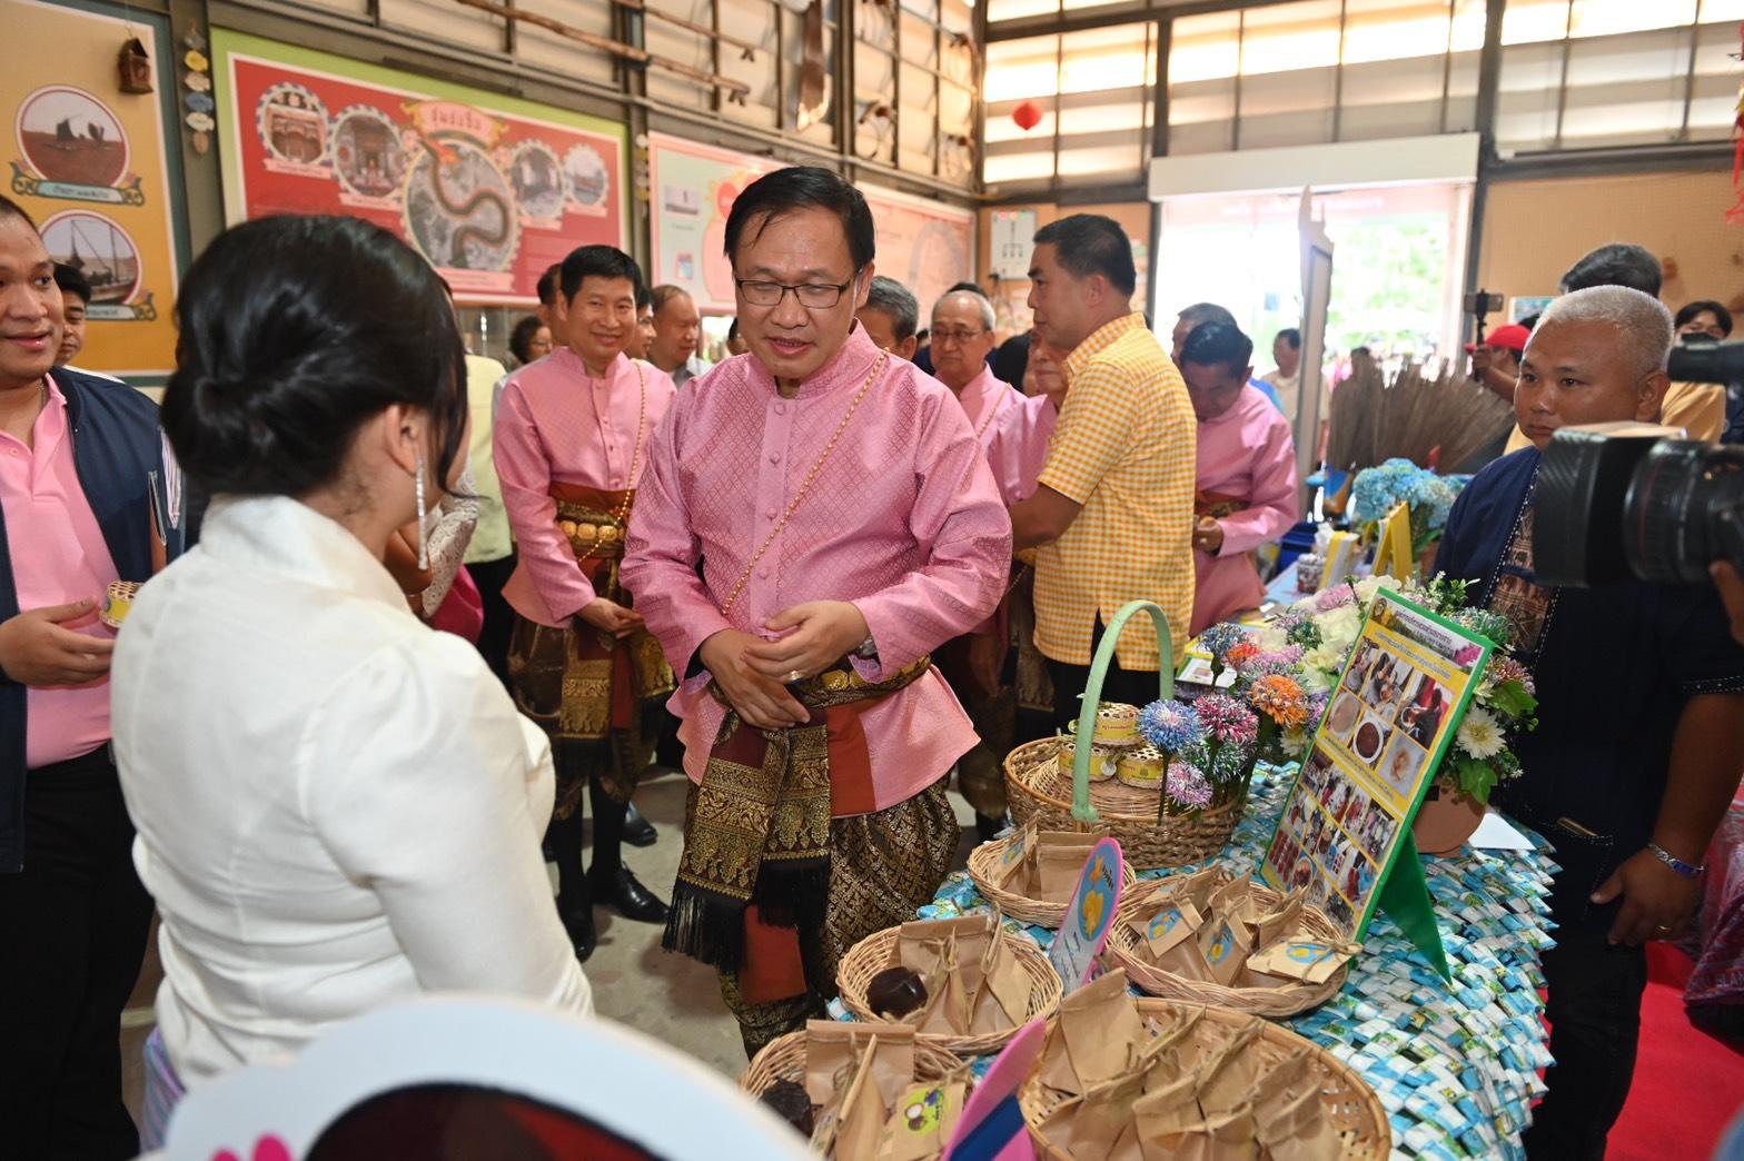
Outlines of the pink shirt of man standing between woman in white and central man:
M607 378L593 378L569 347L504 382L492 448L520 554L502 586L514 612L562 628L593 603L593 584L556 526L551 485L635 488L675 390L666 371L623 354Z

